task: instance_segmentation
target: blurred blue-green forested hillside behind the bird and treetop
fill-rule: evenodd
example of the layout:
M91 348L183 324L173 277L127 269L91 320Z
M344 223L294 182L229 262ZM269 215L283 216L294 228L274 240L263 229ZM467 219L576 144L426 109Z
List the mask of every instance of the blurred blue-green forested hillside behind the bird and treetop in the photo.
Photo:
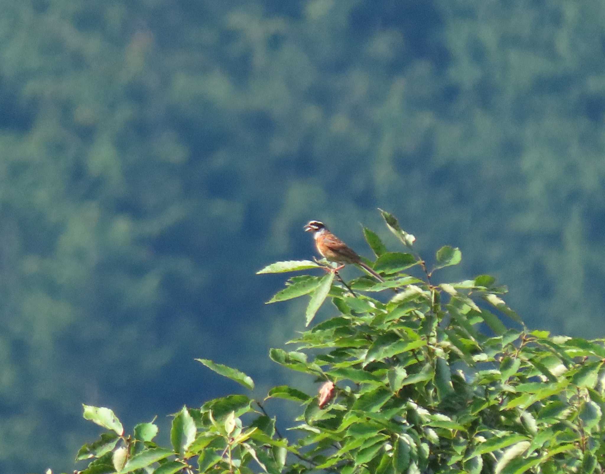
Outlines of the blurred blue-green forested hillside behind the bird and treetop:
M71 472L80 403L165 433L239 390L194 357L287 382L301 307L254 273L310 219L370 257L381 207L603 336L602 2L0 4L1 472Z

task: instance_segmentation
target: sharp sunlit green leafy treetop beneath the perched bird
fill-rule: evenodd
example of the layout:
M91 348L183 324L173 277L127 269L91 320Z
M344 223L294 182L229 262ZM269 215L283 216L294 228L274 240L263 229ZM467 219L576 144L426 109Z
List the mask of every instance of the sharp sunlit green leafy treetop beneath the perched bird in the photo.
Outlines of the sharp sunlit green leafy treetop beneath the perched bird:
M389 228L410 235L388 216ZM174 415L169 449L154 443L153 423L126 436L111 410L85 406L85 418L110 431L80 449L77 459L93 459L82 473L603 470L603 340L551 336L523 324L509 329L502 315L521 320L494 278L436 285L420 257L414 263L422 277L412 277L403 273L401 257L384 258L411 254L387 252L373 232L364 234L381 254L387 283L397 282L389 287L394 295L384 288L381 298L370 297L336 280L334 271L313 280L315 286L307 285L312 277L288 283L309 289L290 294L310 294L307 324L309 314L332 302L332 315L290 341L295 351L270 351L276 363L324 382L319 397L282 385L263 402L231 395L183 407ZM411 239L401 242L413 246ZM460 256L459 249L443 247L437 268L456 265ZM298 263L290 268L300 269ZM200 361L252 389L252 379L239 370ZM284 436L267 415L273 398L295 403L290 430L298 438Z

